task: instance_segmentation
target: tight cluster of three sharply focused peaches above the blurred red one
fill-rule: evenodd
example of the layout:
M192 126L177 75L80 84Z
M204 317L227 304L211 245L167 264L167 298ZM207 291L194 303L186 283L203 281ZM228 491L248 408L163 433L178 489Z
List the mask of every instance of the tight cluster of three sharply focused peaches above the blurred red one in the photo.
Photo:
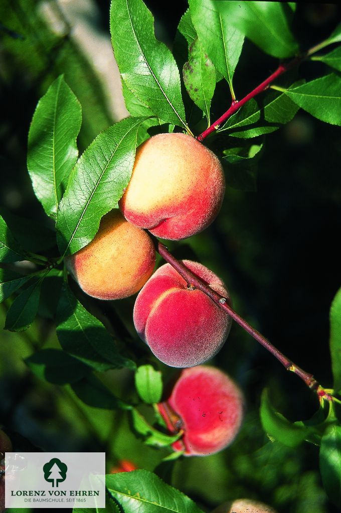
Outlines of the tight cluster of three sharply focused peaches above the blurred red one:
M119 210L106 214L92 242L66 258L74 279L94 298L122 299L143 287L134 308L135 326L169 366L193 367L214 357L228 337L231 319L171 265L151 276L155 245L144 229L174 240L198 233L215 219L224 189L222 167L212 151L183 133L155 135L137 149L119 202L124 217ZM229 299L212 271L183 263Z

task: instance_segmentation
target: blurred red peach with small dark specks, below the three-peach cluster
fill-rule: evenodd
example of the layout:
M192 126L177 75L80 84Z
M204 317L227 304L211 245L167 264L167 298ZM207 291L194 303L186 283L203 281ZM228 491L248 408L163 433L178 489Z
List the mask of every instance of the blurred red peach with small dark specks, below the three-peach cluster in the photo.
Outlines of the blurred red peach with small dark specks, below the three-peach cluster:
M183 430L173 448L187 456L207 456L236 437L243 418L243 395L224 372L199 365L181 371L171 396L158 407L171 432Z

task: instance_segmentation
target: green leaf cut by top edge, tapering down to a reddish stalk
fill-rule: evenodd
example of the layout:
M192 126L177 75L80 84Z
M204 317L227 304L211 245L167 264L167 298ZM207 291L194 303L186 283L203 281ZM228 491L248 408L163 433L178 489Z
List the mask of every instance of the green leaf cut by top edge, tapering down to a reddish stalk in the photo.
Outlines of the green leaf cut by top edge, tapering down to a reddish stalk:
M233 2L232 2L233 3ZM239 61L244 34L221 11L220 2L190 0L190 12L199 40L216 69L226 78L233 97L232 79Z

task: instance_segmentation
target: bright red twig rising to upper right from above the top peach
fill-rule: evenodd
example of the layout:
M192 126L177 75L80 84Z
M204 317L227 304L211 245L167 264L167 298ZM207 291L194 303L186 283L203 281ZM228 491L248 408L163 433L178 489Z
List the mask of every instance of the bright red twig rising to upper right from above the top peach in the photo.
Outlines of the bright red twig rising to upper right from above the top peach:
M205 137L207 137L207 135L210 135L210 133L217 130L223 123L225 123L226 120L229 119L230 116L232 116L232 114L237 112L237 110L239 110L240 107L242 107L245 103L251 100L251 98L254 98L257 94L268 89L270 84L274 82L274 80L276 80L278 76L282 75L289 69L293 68L294 66L297 66L300 62L302 62L306 58L308 53L309 52L305 53L300 57L295 57L292 61L289 61L286 64L280 64L276 71L274 71L274 73L268 76L268 78L266 78L266 80L259 84L259 86L257 86L253 91L244 96L242 100L233 101L229 110L227 110L222 116L220 116L219 119L215 121L209 128L207 128L200 135L198 135L197 140L200 142L203 141Z

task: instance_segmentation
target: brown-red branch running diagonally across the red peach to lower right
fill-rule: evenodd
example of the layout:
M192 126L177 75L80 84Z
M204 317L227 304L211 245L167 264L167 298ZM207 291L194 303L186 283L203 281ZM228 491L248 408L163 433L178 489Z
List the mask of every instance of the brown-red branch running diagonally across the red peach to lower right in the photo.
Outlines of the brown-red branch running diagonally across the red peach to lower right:
M277 360L289 371L294 372L297 376L305 382L305 384L316 391L319 399L327 399L332 401L333 398L330 396L327 391L321 387L321 385L315 380L312 374L309 374L305 370L302 370L300 367L295 365L289 358L287 358L282 352L280 352L271 342L263 337L263 335L253 328L245 319L240 317L240 315L234 311L234 309L229 305L226 298L222 297L215 290L209 287L206 283L204 283L200 278L198 278L192 271L187 269L181 262L179 262L171 253L169 253L168 249L164 244L162 244L158 239L154 238L156 250L161 255L161 257L171 264L174 269L181 274L182 278L186 280L188 285L194 286L195 288L201 290L205 294L207 294L212 301L214 301L222 310L226 311L232 319L234 319L239 326L241 326L245 331L247 331L257 342L259 342L263 347L265 347Z

